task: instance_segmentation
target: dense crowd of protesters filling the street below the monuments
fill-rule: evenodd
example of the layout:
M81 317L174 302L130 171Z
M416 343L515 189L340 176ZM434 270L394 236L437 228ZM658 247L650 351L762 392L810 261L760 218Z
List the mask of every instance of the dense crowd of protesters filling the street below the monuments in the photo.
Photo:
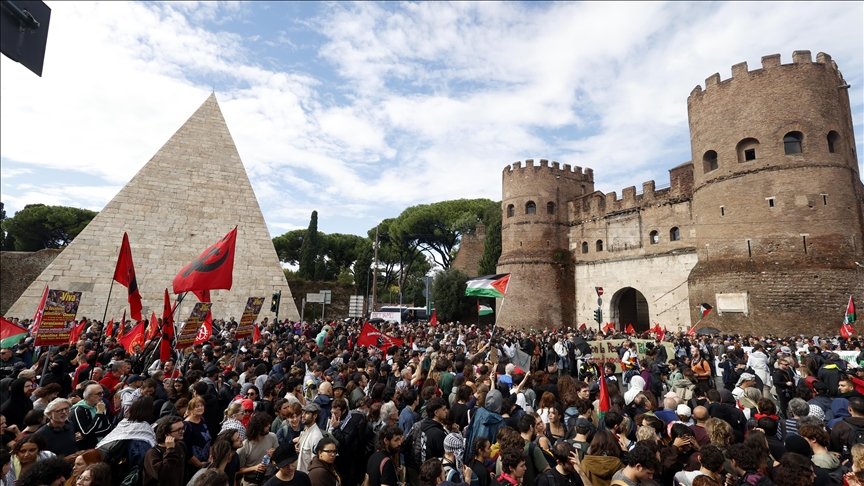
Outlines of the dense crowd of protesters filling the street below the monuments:
M219 320L164 362L95 321L50 353L21 339L0 350L0 485L864 484L852 339L421 322L379 349L362 325L265 320L250 342Z

